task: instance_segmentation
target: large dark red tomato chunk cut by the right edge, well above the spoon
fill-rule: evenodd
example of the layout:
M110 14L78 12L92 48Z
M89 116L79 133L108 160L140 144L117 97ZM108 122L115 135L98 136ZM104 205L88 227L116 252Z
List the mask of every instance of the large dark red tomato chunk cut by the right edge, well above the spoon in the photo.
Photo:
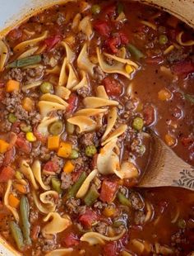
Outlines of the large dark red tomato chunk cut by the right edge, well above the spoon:
M194 73L194 63L192 60L183 60L174 64L172 67L173 73L177 75L187 75L189 73Z

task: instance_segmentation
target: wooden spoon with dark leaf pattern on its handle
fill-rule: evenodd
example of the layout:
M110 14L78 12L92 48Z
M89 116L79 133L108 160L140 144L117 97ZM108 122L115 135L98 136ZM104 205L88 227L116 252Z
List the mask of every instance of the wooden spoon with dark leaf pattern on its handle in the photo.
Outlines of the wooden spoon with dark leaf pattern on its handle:
M138 187L185 187L194 191L194 167L151 133L150 162Z

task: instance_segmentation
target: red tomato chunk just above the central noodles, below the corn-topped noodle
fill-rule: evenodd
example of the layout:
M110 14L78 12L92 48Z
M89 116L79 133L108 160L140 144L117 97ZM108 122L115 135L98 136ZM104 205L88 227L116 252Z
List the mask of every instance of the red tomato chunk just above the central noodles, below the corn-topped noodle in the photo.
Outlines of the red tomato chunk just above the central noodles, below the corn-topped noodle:
M102 83L109 96L117 97L122 94L122 85L114 78L106 77L103 79Z

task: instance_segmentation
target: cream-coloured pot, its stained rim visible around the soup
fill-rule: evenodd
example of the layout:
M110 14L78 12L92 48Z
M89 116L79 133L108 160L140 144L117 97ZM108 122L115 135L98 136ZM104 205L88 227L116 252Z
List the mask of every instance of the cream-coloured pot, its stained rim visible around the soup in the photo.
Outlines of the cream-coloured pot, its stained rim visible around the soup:
M28 17L40 12L47 7L56 3L75 2L76 0L2 0L0 8L0 36L5 36L14 26L25 21ZM133 0L143 2L167 11L173 16L194 27L194 2L193 0ZM7 244L0 237L0 255L2 256L19 256L16 250Z

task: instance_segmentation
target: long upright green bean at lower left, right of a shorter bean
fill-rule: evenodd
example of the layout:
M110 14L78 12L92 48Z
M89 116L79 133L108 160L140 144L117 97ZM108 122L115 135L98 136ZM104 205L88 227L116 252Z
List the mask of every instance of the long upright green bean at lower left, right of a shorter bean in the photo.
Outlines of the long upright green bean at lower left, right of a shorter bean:
M31 244L30 239L30 206L27 197L21 197L20 201L20 213L21 213L21 230L25 238L27 245Z

